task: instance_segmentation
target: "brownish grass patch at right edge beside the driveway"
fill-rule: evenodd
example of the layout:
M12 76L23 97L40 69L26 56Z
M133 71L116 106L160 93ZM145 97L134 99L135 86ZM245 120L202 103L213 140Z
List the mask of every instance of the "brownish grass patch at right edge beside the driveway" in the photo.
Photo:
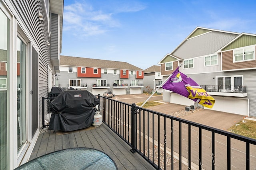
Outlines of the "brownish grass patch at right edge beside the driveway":
M256 121L242 120L228 129L229 132L256 139Z

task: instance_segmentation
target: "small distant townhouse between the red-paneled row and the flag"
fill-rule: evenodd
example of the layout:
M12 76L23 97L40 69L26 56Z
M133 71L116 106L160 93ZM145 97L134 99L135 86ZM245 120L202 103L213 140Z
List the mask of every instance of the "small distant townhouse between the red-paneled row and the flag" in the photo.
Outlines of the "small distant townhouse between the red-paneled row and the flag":
M162 93L163 90L160 88L162 84L161 66L151 66L144 71L144 90L149 86L151 89L157 90L157 93Z

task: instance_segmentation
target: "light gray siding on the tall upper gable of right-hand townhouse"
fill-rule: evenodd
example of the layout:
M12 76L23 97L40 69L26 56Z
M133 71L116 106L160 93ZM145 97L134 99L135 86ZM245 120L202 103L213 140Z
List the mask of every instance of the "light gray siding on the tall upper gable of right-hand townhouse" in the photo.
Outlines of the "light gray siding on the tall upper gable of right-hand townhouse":
M172 55L181 59L190 59L208 54L216 53L221 47L226 45L237 34L212 31L200 36L187 39Z

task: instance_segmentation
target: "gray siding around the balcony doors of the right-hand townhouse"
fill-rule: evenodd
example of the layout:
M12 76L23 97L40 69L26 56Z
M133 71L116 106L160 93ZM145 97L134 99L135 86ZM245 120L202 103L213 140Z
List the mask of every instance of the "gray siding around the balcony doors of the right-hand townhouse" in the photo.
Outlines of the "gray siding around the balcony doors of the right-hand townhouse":
M202 74L186 74L199 85L216 85L216 76L244 76L244 86L246 86L247 97L249 99L249 115L256 116L256 71L255 70L244 70L235 72L215 72L215 73L202 73ZM214 79L213 79L214 78ZM214 97L214 96L213 96ZM234 107L239 107L235 106Z

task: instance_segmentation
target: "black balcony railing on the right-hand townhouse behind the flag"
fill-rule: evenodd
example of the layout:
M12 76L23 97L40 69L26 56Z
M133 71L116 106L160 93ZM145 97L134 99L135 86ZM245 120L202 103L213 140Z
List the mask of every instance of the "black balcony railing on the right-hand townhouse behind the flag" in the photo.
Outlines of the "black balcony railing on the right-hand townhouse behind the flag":
M206 92L246 93L246 86L201 85Z

